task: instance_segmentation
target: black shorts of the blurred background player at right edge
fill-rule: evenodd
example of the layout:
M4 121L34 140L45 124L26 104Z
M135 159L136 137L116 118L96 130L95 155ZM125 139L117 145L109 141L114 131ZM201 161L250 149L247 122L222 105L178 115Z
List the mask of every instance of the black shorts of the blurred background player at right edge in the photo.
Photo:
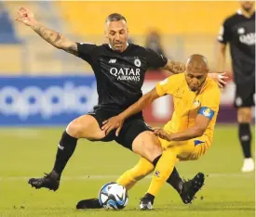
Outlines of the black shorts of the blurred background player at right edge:
M235 108L255 106L255 81L249 83L236 83Z

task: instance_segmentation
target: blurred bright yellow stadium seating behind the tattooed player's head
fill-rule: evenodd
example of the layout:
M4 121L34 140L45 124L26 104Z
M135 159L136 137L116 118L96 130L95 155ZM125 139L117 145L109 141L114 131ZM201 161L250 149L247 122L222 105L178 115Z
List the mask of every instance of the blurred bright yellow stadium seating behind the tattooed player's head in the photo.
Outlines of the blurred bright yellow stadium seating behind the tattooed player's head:
M78 34L102 34L108 14L124 14L132 34L155 27L163 34L216 34L222 18L233 13L235 2L55 2L71 30ZM191 8L195 8L191 10ZM229 11L228 11L228 10ZM218 16L216 13L218 12ZM93 15L93 17L92 17ZM142 16L141 16L142 15ZM149 21L150 20L150 21Z

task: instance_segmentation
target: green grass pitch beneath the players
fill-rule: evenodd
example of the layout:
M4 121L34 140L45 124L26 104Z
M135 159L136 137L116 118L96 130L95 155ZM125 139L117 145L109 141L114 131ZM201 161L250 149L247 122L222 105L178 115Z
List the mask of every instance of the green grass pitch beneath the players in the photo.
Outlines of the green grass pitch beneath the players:
M254 173L240 172L243 159L236 126L217 125L213 145L207 154L200 160L178 164L185 178L192 178L196 172L208 174L206 185L194 203L182 204L178 194L169 185L164 185L155 198L154 211L138 209L150 177L129 191L128 207L123 211L74 209L78 200L97 197L101 185L115 181L139 160L115 143L80 140L57 192L35 190L28 185L28 178L40 177L52 169L61 132L61 128L0 129L1 217L255 216Z

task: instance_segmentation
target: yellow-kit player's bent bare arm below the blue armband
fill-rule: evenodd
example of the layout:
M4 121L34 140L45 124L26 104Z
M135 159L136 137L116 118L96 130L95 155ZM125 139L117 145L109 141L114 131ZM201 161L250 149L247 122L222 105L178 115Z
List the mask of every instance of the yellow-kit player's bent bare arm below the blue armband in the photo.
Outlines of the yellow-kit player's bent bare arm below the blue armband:
M168 134L162 129L155 129L155 135L168 141L183 141L192 139L195 137L199 137L205 133L209 125L209 121L210 119L208 117L198 114L196 117L195 126L193 127L189 127L188 129L176 134Z

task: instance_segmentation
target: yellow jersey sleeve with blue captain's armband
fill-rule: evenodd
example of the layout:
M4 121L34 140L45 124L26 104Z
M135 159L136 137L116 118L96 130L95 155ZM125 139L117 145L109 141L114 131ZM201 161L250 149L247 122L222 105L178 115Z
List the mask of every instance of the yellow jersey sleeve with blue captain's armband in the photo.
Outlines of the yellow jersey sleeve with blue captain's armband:
M221 102L221 91L219 87L214 87L204 94L201 107L198 110L198 114L204 115L210 120L214 115L217 115Z

